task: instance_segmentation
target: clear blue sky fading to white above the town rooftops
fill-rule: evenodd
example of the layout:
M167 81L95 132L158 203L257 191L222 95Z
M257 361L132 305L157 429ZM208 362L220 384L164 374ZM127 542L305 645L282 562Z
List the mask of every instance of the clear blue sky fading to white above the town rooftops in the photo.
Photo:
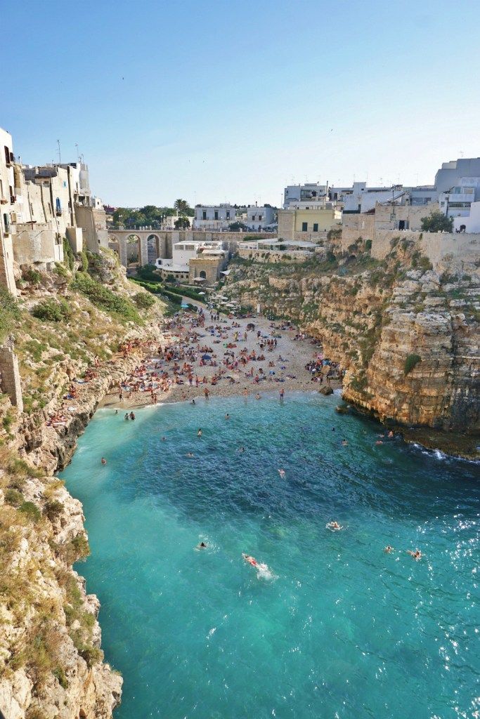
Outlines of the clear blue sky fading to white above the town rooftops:
M480 155L480 0L0 0L0 18L16 154L78 143L114 205L278 205L293 178L433 183Z

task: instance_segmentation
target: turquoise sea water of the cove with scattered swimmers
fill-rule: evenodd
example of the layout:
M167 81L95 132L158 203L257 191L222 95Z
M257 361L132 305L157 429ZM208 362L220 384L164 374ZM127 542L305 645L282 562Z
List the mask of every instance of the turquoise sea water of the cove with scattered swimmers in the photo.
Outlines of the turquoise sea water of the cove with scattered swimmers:
M376 445L337 403L96 413L61 477L124 676L117 719L478 716L479 467Z

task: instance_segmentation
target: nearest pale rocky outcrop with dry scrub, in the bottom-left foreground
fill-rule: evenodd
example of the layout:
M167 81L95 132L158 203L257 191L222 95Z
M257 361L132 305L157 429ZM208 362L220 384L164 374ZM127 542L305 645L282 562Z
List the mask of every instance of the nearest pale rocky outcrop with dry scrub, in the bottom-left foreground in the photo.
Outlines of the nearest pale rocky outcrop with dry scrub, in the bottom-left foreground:
M87 546L81 503L51 477L2 479L0 708L8 719L109 719L122 677L102 663L99 602L71 569Z

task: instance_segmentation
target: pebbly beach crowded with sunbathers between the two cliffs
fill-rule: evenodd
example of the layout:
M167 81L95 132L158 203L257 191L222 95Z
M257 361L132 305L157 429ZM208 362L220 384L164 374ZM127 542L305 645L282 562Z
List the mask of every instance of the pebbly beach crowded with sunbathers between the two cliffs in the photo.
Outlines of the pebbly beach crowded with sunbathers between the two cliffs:
M247 329L252 323L255 329ZM183 313L166 323L160 345L162 352L152 352L145 357L138 371L124 383L122 398L119 388L114 388L105 395L100 406L131 410L151 404L197 400L204 398L205 388L210 397L227 397L280 393L282 389L288 395L291 391L312 391L322 387L319 381L312 381L312 372L305 368L312 360L322 357L321 344L302 337L294 326L264 317L210 319L207 310L204 326L197 324L198 316L192 313ZM275 341L276 345L273 345ZM176 359L167 359L168 352ZM210 359L202 360L205 355ZM240 361L241 357L253 356L264 359ZM184 370L184 362L188 363L188 370ZM180 370L174 370L175 367ZM168 373L168 380L163 380L162 385L166 391L159 386L160 373ZM219 379L212 384L215 376ZM199 378L198 386L196 377ZM335 389L341 387L341 382L325 379L323 385Z

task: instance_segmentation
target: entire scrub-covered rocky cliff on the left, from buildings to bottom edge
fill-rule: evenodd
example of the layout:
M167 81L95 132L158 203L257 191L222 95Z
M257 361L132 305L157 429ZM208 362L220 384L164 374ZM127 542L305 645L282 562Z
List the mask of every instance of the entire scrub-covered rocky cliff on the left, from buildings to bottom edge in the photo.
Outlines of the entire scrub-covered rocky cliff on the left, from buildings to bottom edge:
M124 357L119 343L158 340L165 305L127 282L109 253L50 273L19 268L17 282L17 303L0 297L0 335L18 354L25 406L19 415L0 395L0 710L6 719L110 719L122 677L104 662L99 601L72 568L89 554L82 508L52 475L106 391L139 363L141 350ZM94 375L65 403L87 369ZM65 422L48 426L58 411Z

